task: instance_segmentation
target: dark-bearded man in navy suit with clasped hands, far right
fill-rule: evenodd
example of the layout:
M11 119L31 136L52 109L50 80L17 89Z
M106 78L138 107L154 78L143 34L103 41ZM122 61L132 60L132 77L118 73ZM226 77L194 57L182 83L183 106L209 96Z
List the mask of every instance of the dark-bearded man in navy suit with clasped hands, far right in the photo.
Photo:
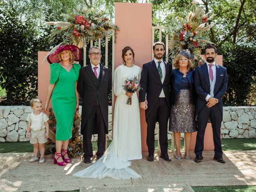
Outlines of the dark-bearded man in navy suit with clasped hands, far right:
M220 140L220 127L223 114L222 97L228 88L228 75L226 68L219 66L214 61L217 49L208 44L204 49L206 63L196 67L194 74L195 88L198 94L196 102L196 120L198 131L196 135L195 162L203 159L204 132L208 119L212 123L214 141L214 160L225 163L222 158L222 146Z

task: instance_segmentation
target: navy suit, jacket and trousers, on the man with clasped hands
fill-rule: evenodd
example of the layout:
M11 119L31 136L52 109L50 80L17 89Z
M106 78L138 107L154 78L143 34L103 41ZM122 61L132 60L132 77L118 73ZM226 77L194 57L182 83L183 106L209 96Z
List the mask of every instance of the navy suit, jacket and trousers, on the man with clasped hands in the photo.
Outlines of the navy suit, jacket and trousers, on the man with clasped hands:
M198 122L198 132L196 135L195 154L202 155L204 150L204 132L210 118L212 123L214 152L216 156L222 156L222 146L220 140L220 126L222 122L223 104L222 97L228 88L228 75L226 68L216 64L216 82L214 85L214 98L219 102L208 108L206 106L206 96L210 94L210 79L207 64L196 67L195 74L195 88L198 94L196 102L196 119Z

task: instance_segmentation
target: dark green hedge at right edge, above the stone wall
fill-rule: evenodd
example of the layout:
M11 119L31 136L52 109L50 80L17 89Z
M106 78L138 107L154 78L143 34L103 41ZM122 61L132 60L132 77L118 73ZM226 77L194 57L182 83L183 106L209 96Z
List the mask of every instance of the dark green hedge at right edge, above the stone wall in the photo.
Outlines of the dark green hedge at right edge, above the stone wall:
M223 98L225 105L250 104L250 93L256 77L256 48L224 43L218 52L223 55L228 73L228 90Z

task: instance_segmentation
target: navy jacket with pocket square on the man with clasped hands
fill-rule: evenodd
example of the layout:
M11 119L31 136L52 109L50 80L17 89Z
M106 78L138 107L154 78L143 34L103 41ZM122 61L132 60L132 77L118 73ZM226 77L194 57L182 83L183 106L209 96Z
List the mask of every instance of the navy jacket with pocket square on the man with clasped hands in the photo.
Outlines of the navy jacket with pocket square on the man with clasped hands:
M196 67L195 74L195 88L198 94L197 102L196 102L196 114L197 117L198 112L202 109L204 105L206 105L206 96L210 94L210 79L207 64L204 63L201 66ZM225 67L222 67L216 64L216 82L214 86L214 98L218 99L217 103L218 107L221 111L221 116L223 114L223 103L222 97L226 93L228 88L228 74Z

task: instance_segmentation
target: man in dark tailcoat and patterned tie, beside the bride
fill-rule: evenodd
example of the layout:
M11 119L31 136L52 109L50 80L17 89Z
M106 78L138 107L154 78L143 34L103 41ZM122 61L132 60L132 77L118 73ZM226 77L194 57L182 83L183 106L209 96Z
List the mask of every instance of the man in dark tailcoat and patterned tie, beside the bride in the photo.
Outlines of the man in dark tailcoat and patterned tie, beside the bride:
M162 60L165 45L153 44L154 60L143 65L139 94L140 107L146 110L148 161L154 161L154 143L156 122L159 123L159 142L161 155L166 161L168 156L167 124L170 115L170 64Z

